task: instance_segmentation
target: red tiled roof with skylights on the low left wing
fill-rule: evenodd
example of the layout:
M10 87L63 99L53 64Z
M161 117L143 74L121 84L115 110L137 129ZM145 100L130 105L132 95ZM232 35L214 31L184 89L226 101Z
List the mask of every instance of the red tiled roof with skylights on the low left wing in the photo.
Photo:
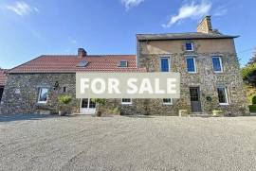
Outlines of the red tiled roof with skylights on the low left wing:
M82 60L88 63L84 67L78 67ZM126 60L128 67L119 67L120 60ZM94 55L84 58L78 58L77 55L44 55L8 71L10 74L76 72L146 72L146 69L137 68L136 55Z

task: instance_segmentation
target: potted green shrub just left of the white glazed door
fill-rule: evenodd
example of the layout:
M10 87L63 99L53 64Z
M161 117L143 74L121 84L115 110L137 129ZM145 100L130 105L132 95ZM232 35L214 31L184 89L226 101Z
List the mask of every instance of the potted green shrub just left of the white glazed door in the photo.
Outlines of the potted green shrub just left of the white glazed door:
M61 95L58 98L59 103L59 115L63 116L66 114L71 114L70 102L72 101L72 97L70 95Z

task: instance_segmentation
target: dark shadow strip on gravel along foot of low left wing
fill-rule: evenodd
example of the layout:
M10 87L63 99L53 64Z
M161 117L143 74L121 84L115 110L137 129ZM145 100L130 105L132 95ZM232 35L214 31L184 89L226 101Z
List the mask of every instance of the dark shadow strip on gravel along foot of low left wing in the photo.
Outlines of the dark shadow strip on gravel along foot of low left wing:
M59 117L59 116L49 115L49 114L0 114L0 122L12 122L12 121L21 121L21 120L41 120L41 119L55 118L55 117Z

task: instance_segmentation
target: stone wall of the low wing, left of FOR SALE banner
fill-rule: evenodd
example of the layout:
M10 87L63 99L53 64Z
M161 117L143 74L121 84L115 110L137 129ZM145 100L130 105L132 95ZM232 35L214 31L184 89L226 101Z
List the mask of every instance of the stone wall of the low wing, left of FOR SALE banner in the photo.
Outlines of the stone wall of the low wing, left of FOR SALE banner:
M80 100L75 96L75 76L75 74L11 74L8 76L0 110L2 113L57 112L58 96L68 94L73 97L72 111L76 112ZM59 87L55 89L56 81ZM46 104L37 103L40 87L49 89Z

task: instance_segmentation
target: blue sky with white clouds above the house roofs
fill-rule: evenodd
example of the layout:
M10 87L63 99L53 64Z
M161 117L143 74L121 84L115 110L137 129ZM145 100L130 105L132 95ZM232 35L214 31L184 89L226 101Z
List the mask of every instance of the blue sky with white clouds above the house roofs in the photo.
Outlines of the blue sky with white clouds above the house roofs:
M136 54L137 33L192 32L203 15L240 35L245 64L256 46L255 0L0 0L0 67L43 54Z

